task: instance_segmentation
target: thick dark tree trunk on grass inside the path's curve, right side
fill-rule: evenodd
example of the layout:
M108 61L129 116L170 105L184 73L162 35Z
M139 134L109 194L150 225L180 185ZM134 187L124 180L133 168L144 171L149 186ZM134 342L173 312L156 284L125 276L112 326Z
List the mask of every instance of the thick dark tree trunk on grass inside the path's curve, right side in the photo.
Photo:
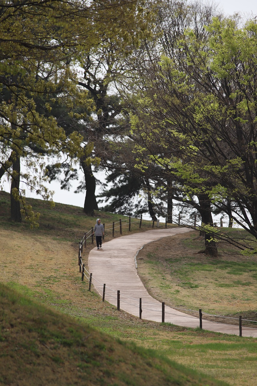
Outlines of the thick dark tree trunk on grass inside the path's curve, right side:
M205 195L199 195L198 196L200 209L199 212L202 217L202 223L206 225L210 225L213 227L213 219L211 215L211 202L208 196ZM215 241L211 240L212 235L208 232L205 232L205 253L217 257L218 256L218 250L216 247Z

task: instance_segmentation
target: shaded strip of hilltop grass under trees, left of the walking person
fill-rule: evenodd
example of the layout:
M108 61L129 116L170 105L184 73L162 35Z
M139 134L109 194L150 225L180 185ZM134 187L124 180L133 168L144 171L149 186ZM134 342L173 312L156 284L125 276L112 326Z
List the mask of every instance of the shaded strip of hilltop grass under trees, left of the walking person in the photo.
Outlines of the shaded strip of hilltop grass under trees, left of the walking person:
M129 234L128 217L101 211L95 211L95 217L86 216L83 208L74 205L64 205L55 203L54 208L50 208L47 201L27 198L26 203L32 205L34 212L40 213L39 228L30 230L29 223L15 223L10 221L10 194L5 191L0 191L0 219L2 229L12 229L17 232L25 232L33 235L50 235L55 239L73 242L78 245L79 241L88 232L91 227L95 226L96 218L101 218L101 223L105 223L105 241L112 239L112 223L115 222L114 237L120 236L120 227L117 223L122 220L122 235ZM126 224L126 225L125 225ZM160 229L164 228L165 224L160 223ZM131 219L130 233L144 232L152 229L152 222L142 220L142 226L139 229L139 219ZM90 245L89 245L90 246Z

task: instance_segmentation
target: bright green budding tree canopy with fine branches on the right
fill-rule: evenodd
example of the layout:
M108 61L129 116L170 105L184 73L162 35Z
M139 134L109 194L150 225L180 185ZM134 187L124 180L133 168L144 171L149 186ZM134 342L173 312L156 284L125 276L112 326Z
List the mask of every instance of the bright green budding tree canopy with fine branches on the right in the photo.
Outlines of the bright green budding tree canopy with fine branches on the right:
M233 220L257 238L257 24L239 28L216 17L204 30L201 38L185 30L175 54L165 52L149 67L132 118L138 161L143 169L157 164L188 198L232 210Z

